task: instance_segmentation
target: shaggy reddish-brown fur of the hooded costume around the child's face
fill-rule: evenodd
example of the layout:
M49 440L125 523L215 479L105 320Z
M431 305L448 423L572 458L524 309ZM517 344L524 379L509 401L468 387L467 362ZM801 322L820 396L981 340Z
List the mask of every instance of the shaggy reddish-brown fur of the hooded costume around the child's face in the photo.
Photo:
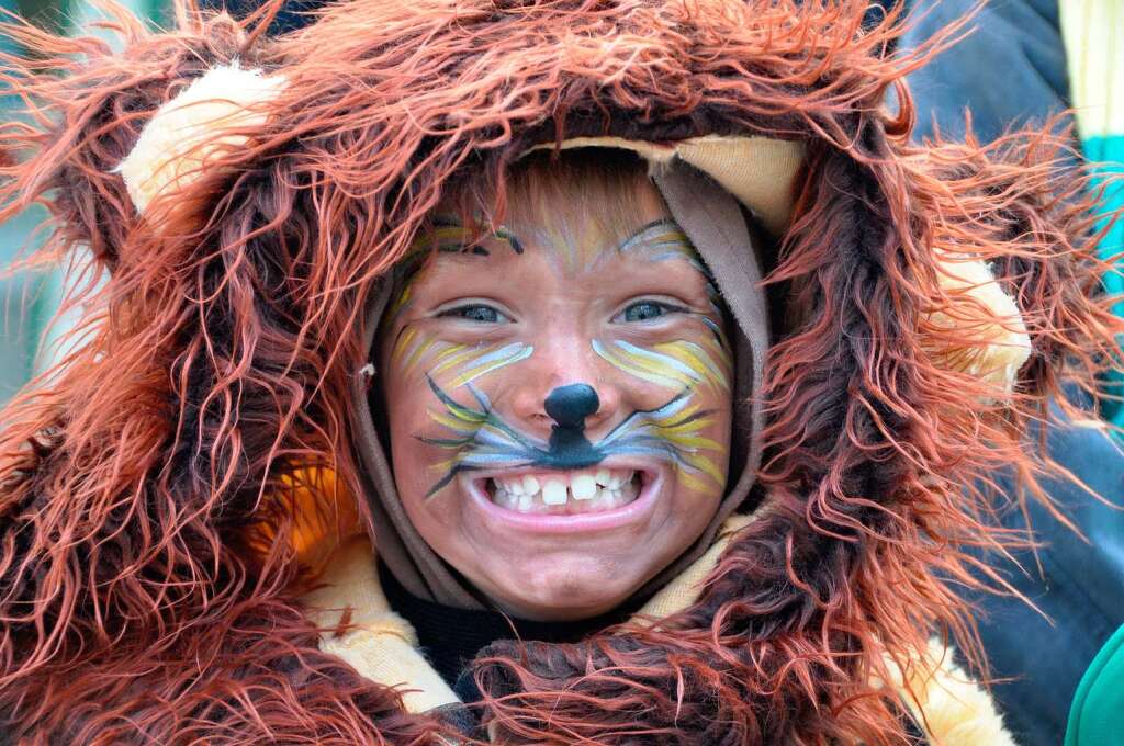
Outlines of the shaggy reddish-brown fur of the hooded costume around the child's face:
M111 279L76 299L84 346L2 415L6 729L433 740L438 719L318 649L289 540L373 519L348 497L363 309L444 189L501 186L528 148L736 137L801 153L767 190L789 206L765 257L769 510L658 625L486 651L479 715L517 742L907 743L921 693L877 682L913 680L934 631L975 649L952 585L979 584L962 547L1003 540L980 485L1014 467L1033 491L1050 464L1024 422L1063 371L1091 389L1121 328L1058 143L910 146L922 60L885 55L896 19L864 9L352 0L277 39L264 12L153 34L115 11L123 52L8 26L36 54L3 73L31 115L4 128L0 217L47 202L44 256L89 247ZM138 211L121 166L145 124L235 63L285 84Z

